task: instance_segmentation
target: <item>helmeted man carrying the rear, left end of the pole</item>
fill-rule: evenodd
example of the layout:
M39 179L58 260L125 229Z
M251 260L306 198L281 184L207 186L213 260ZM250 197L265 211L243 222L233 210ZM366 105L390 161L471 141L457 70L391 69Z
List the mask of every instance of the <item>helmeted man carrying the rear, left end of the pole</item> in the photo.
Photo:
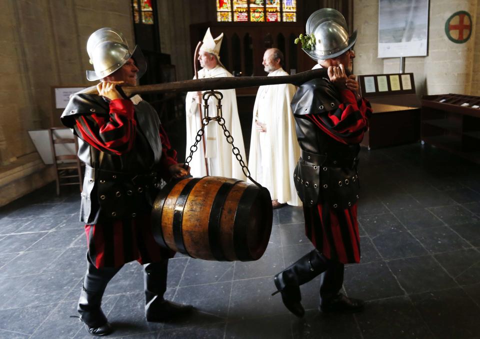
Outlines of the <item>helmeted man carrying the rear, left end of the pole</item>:
M92 335L111 332L100 304L108 281L126 262L144 264L145 315L164 321L192 307L163 299L168 258L174 252L156 244L150 227L152 200L159 179L187 175L176 161L153 107L135 95L127 99L115 85L136 85L146 69L141 50L130 52L123 35L112 28L92 33L87 52L100 80L97 94L74 94L61 115L79 138L78 157L85 163L80 220L85 223L87 270L78 301L80 320Z

